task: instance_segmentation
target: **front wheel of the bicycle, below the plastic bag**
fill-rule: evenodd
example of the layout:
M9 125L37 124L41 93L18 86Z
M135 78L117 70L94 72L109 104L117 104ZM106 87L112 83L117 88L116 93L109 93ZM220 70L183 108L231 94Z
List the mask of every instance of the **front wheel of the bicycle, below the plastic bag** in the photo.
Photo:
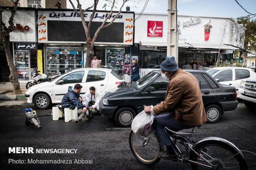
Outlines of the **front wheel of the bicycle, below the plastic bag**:
M160 161L161 158L157 154L161 151L156 133L150 138L137 135L131 130L129 136L130 149L135 158L145 165L154 165Z

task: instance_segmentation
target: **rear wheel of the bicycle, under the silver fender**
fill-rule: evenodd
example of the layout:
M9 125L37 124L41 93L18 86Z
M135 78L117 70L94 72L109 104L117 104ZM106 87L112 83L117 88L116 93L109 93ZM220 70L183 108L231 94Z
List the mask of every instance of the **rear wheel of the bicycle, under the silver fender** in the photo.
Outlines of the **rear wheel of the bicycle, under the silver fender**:
M200 156L205 158L201 158L194 151L190 152L190 160L195 161L197 163L191 163L193 170L208 170L208 169L216 169L216 170L247 170L247 163L244 159L242 153L239 153L237 149L230 146L229 144L216 141L209 140L201 142L196 145L194 148ZM204 165L202 165L204 164ZM212 166L212 168L207 167Z

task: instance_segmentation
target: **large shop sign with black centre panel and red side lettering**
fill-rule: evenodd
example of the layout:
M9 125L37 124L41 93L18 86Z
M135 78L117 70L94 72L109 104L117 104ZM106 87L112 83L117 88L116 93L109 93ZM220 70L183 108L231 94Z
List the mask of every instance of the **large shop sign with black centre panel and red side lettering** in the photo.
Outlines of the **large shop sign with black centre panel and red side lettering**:
M107 12L96 12L93 14L92 12L85 12L83 14L85 21L89 22L90 18L93 18L92 28L97 30L97 25L107 19L107 23L109 23L114 17L116 17L117 13L113 13L109 15ZM92 16L93 15L93 16ZM100 36L100 41L97 43L109 43L109 39L113 34L116 35L115 38L111 38L111 43L117 44L133 44L133 29L134 29L134 19L132 13L121 13L119 16L115 18L114 23L109 27L109 29L102 30L104 36ZM77 36L77 32L73 32L74 29L77 29L79 33L84 33L83 26L76 24L81 23L81 17L76 14L76 12L69 11L38 11L38 42L86 42L83 38L85 35ZM106 23L106 24L107 24ZM113 27L113 26L116 27ZM63 29L65 26L65 29ZM74 27L77 26L77 27ZM112 28L111 28L112 27ZM118 28L118 29L117 29ZM83 29L83 30L82 30ZM56 31L58 30L58 31ZM82 31L81 31L82 30ZM116 32L116 33L113 33ZM69 36L62 35L68 34ZM118 35L118 36L117 36Z

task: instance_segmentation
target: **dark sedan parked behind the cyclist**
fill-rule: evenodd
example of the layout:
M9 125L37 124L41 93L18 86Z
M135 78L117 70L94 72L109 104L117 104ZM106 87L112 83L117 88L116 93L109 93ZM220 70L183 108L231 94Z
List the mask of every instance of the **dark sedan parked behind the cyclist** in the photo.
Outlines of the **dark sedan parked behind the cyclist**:
M224 111L237 107L235 87L219 84L205 71L185 70L192 73L199 83L204 102L207 121L215 123ZM115 119L121 127L131 125L136 114L144 109L144 105L156 105L164 101L167 80L161 77L161 70L154 70L134 84L123 86L116 91L106 91L100 102L102 116Z

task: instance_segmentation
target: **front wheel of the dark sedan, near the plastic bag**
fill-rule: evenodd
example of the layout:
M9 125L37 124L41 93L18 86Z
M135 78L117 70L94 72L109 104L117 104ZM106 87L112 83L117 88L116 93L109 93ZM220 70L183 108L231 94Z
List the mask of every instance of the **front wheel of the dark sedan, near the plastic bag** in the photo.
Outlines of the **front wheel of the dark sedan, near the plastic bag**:
M135 116L136 113L132 108L123 107L116 112L115 121L118 126L126 128L131 126Z

